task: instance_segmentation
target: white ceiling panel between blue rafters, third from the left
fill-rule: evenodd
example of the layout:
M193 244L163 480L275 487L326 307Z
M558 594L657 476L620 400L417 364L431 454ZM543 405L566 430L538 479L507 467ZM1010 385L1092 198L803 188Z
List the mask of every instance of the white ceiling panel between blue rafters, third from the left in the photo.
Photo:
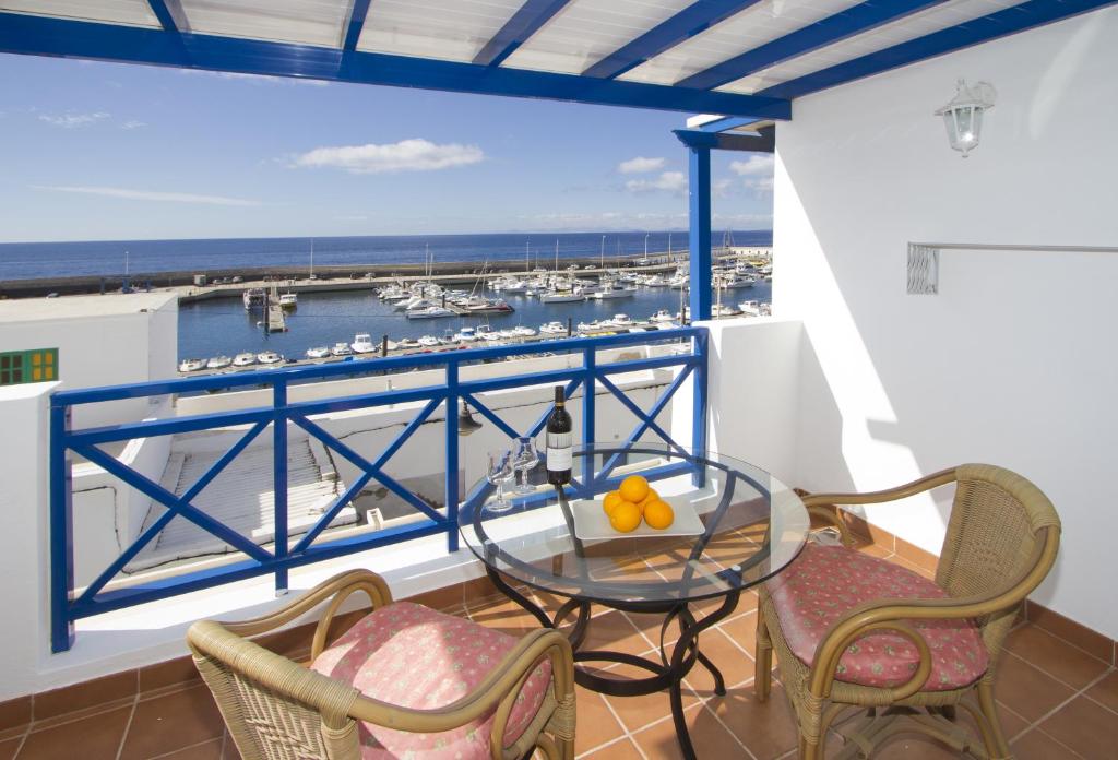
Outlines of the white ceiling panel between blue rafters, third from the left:
M468 63L523 0L375 0L358 50Z

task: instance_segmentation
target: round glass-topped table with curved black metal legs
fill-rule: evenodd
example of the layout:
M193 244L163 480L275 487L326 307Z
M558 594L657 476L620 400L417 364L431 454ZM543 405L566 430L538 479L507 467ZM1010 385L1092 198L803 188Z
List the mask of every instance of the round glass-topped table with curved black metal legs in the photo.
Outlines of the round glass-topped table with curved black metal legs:
M458 511L467 547L484 562L493 583L541 625L565 623L576 663L625 663L650 675L612 678L608 672L576 667L579 685L604 694L636 696L669 690L684 757L694 750L683 716L682 681L697 663L726 694L717 665L702 654L700 634L730 615L742 590L771 578L799 553L809 520L799 497L771 475L721 454L675 446L576 447L572 481L559 490L544 482L544 464L532 471L534 491L493 510L494 486L482 481ZM628 475L643 475L671 504L675 520L657 531L642 524L632 533L609 526L603 497ZM565 599L548 615L517 586ZM721 605L697 618L690 605ZM584 650L593 625L591 604L664 616L660 657ZM665 645L676 625L680 636Z

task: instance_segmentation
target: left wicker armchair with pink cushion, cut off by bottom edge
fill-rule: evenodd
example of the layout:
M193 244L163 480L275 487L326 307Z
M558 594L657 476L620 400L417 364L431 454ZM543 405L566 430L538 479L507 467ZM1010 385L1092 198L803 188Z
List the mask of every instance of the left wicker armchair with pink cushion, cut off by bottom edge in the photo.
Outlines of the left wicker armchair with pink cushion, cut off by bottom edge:
M354 592L369 597L372 611L328 647L331 621ZM328 600L310 667L243 638ZM430 750L512 760L536 749L551 760L574 757L574 663L562 635L540 629L517 640L419 605L394 604L373 572L337 576L254 620L201 620L188 642L245 760L423 757ZM381 684L378 692L362 688L370 678ZM411 692L399 699L409 680Z

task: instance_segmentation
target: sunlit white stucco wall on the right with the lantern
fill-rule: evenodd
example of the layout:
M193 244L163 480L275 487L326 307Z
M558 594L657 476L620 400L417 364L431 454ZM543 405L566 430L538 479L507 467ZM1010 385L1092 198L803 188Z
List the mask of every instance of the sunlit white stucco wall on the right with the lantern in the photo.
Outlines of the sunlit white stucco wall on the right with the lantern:
M1118 245L1118 9L796 102L777 137L775 310L802 320L797 482L871 490L963 462L1034 481L1063 520L1035 598L1110 637L1118 255L945 251L906 294L908 241ZM998 91L980 146L932 111ZM938 551L950 494L866 510Z

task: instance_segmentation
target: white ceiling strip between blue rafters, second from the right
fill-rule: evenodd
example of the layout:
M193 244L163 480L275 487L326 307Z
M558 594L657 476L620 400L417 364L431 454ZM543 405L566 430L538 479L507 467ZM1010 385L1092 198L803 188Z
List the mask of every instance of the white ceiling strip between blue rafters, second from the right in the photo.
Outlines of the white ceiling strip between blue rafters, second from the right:
M859 0L761 0L623 74L620 79L671 85L746 50L858 4Z

